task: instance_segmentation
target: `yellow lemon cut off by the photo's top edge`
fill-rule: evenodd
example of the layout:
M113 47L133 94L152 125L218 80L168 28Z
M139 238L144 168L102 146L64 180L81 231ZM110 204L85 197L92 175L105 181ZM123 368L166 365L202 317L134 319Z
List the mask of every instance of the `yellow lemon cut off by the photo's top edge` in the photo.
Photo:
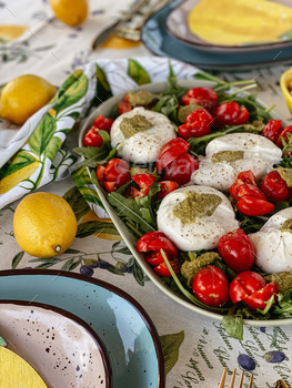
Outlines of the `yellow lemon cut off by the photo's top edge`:
M50 0L57 19L69 25L79 25L88 17L87 0Z

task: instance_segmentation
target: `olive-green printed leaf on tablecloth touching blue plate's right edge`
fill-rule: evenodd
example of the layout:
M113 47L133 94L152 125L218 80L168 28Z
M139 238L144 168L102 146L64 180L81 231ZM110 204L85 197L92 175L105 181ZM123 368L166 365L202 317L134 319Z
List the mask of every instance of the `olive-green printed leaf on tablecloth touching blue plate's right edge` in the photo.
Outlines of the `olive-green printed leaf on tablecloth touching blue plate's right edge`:
M160 336L165 361L165 372L168 374L179 359L179 349L184 339L184 331Z

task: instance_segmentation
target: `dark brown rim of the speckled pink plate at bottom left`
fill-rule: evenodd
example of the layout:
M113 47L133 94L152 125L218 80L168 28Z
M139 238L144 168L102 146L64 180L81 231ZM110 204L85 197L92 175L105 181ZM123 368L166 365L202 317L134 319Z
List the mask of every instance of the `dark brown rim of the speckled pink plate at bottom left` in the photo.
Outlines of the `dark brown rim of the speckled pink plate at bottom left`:
M1 276L1 275L0 275ZM53 305L48 305L46 303L41 303L41 302L29 302L29 300L17 300L17 299L0 299L0 306L1 305L17 305L17 306L24 306L24 307L31 307L31 308L42 308L44 310L48 312L53 312L62 317L66 317L70 320L72 320L74 324L77 324L78 326L82 327L83 329L85 329L85 331L88 331L88 334L93 338L102 361L103 361L103 366L104 366L104 371L105 371L105 387L104 388L112 388L112 369L111 369L111 364L110 364L110 358L108 355L108 350L102 341L102 339L99 337L99 335L89 326L88 323L85 323L82 318L80 318L79 316L77 316L73 313L67 312L63 308L53 306Z

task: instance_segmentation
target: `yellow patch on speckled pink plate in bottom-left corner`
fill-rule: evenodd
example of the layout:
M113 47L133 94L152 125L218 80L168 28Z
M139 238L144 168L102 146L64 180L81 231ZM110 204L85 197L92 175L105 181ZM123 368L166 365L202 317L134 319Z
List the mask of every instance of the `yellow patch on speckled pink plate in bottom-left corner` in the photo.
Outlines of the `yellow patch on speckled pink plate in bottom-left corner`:
M23 358L0 346L0 387L47 388L47 385Z

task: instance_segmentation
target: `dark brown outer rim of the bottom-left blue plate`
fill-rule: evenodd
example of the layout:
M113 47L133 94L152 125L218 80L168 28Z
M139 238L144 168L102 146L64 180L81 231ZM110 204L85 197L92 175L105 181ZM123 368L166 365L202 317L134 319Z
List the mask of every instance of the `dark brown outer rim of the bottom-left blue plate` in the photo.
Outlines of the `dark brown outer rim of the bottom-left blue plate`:
M93 284L98 287L104 288L104 289L118 295L122 299L127 300L132 306L132 308L134 308L134 310L139 314L139 316L143 320L143 323L144 323L145 327L148 328L149 334L152 338L153 346L155 349L157 364L158 364L158 387L157 388L164 388L165 387L164 356L163 356L162 344L161 344L157 327L155 327L153 320L151 319L151 317L149 316L149 314L147 313L147 310L130 294L128 294L123 289L121 289L121 288L119 288L119 287L117 287L117 286L114 286L105 280L101 280L101 279L95 278L95 277L85 277L84 275L81 275L78 273L71 273L71 272L67 272L67 270L30 269L30 268L0 270L0 278L1 277L9 277L9 276L21 276L21 275L29 275L29 276L49 275L49 276L53 276L53 277L57 277L57 276L58 277L59 276L69 277L69 278L77 279L80 282L91 283L91 284ZM2 300L1 296L0 296L0 300ZM8 299L8 300L10 300L10 299ZM54 305L49 305L49 306L54 306ZM54 306L54 307L57 307L57 306ZM57 307L57 308L59 308L59 307ZM67 309L64 309L64 310L68 312ZM72 314L71 312L68 312L68 313ZM82 318L80 318L80 319L82 319ZM93 329L93 331L94 331L94 329Z

